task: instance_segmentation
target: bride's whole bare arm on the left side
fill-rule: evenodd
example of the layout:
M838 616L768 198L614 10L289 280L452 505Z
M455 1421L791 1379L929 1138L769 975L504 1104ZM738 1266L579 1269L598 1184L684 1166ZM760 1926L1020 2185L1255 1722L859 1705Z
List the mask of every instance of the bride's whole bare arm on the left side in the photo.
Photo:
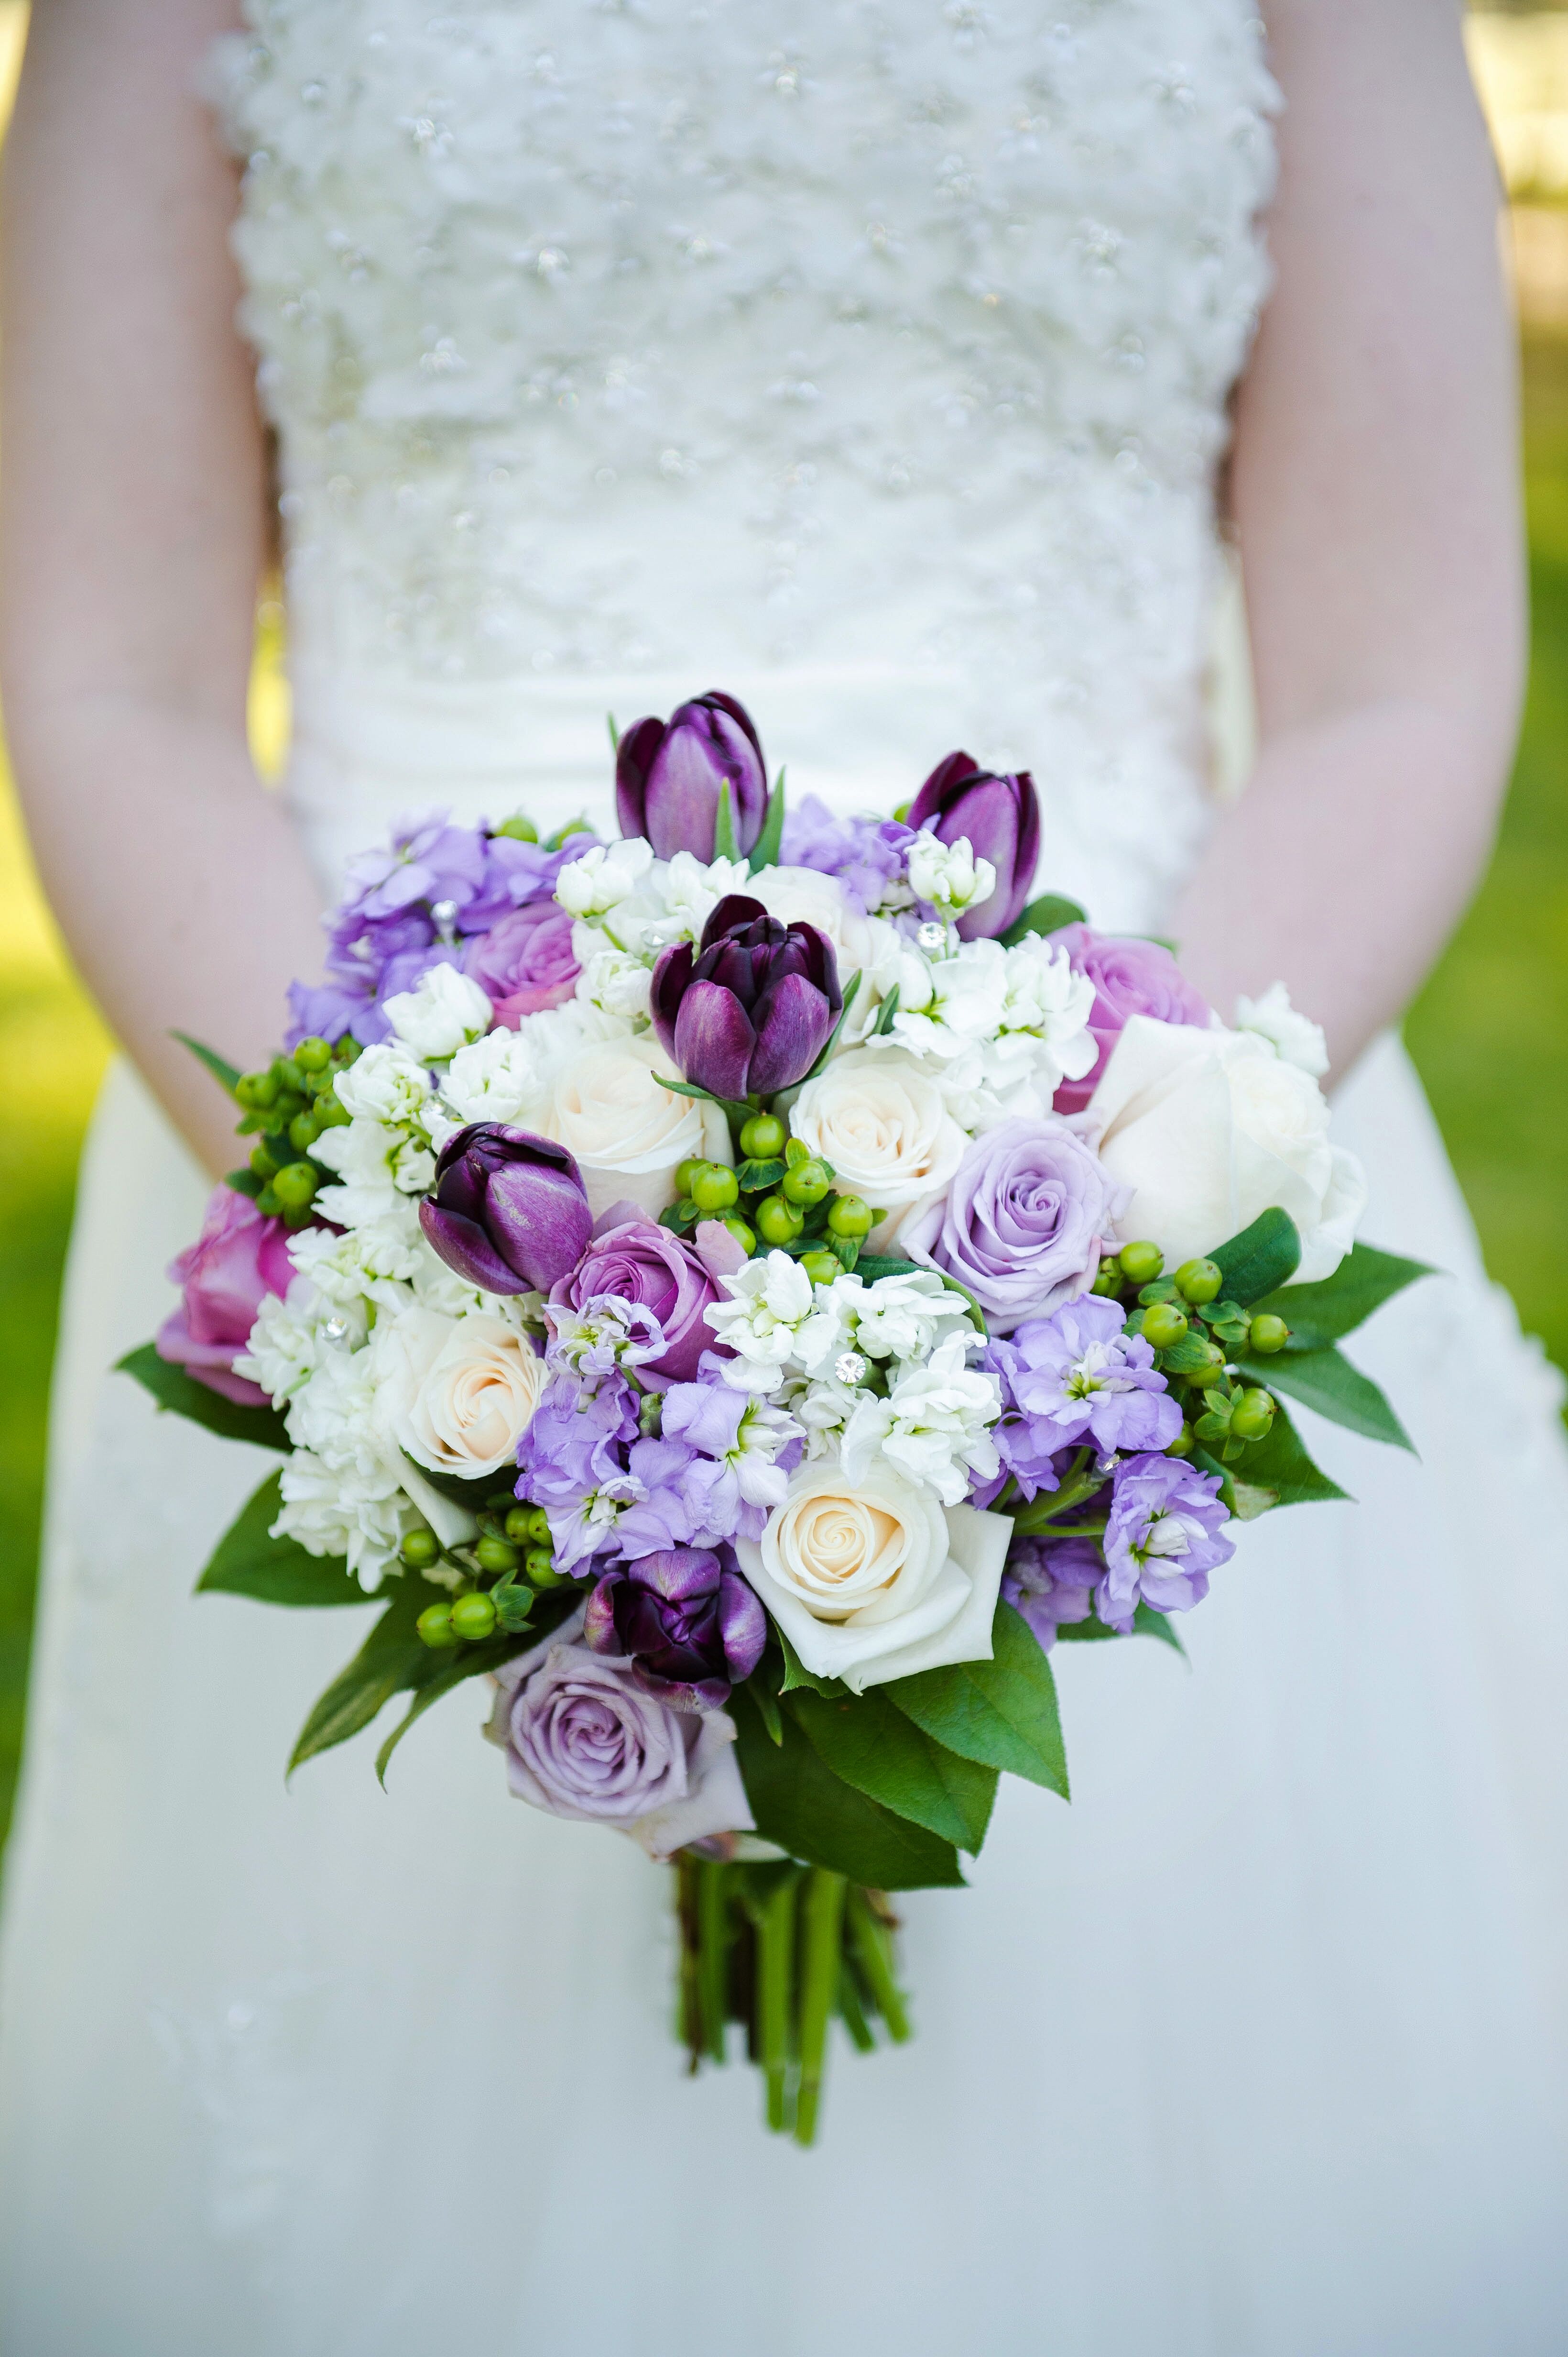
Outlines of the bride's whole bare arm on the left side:
M0 669L38 865L115 1032L212 1169L318 896L245 745L264 450L193 90L233 0L49 0L5 160Z

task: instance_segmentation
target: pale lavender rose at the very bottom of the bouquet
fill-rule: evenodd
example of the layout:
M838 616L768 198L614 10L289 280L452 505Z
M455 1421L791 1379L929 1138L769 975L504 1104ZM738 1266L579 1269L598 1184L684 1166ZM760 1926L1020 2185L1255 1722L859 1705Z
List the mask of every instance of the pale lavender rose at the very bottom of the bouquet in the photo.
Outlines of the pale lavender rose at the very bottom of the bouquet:
M490 1732L520 1801L619 1827L650 1857L751 1829L723 1711L676 1711L633 1683L629 1662L572 1643L509 1662L497 1685Z

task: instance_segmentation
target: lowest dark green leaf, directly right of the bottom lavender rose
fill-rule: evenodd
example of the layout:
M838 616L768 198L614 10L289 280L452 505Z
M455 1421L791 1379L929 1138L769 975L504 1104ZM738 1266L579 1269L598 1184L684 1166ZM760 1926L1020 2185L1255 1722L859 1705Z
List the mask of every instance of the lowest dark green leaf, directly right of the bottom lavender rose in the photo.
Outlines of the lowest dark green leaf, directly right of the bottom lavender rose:
M963 1886L958 1850L836 1777L789 1711L782 1716L784 1742L775 1744L751 1688L737 1685L730 1709L739 1730L739 1772L763 1841L777 1841L791 1857L848 1874L869 1890Z

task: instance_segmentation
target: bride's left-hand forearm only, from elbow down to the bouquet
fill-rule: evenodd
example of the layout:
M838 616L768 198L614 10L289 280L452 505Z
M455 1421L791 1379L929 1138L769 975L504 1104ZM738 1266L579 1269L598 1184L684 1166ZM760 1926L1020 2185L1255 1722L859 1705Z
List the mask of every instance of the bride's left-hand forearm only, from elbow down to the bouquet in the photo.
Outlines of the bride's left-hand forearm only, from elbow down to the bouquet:
M7 712L38 867L71 952L210 1171L235 1110L172 1032L233 1063L275 1051L283 988L320 966L320 893L245 742L122 698Z

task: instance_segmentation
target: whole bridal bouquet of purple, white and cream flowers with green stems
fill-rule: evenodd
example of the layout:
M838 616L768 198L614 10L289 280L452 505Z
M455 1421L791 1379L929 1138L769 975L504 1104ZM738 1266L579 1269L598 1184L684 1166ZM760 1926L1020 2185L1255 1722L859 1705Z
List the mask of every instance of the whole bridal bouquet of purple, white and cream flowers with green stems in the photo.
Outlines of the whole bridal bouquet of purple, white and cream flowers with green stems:
M614 733L614 731L612 731ZM292 1765L483 1681L532 1808L676 1862L678 2020L810 2143L829 2020L909 2034L890 1893L1003 1772L1067 1798L1050 1655L1180 1638L1285 1504L1285 1400L1406 1442L1340 1339L1321 1032L1029 900L1029 775L897 818L768 790L725 695L617 745L619 841L403 825L351 872L254 1143L125 1367L280 1452L200 1586L363 1605Z

